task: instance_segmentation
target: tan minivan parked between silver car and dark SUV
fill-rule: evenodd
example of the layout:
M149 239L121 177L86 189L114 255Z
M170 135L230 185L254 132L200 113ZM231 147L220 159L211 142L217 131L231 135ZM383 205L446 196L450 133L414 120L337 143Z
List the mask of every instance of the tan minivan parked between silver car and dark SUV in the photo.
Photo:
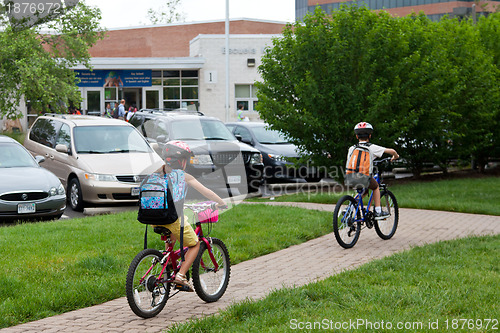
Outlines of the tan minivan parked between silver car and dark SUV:
M70 207L136 203L140 182L163 161L134 126L109 118L38 117L24 146L65 186Z

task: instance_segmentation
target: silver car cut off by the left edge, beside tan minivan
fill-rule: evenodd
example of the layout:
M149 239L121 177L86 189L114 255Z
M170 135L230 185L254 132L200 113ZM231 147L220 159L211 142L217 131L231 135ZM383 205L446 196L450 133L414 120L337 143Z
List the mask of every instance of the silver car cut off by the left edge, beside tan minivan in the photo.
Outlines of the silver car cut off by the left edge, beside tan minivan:
M57 177L40 167L16 140L0 135L0 220L59 219L66 192Z

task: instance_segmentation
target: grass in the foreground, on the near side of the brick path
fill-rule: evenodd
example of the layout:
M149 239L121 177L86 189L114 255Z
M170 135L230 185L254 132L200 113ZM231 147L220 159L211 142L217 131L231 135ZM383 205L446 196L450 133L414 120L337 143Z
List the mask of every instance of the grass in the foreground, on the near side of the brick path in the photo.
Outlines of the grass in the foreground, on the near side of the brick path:
M262 300L232 305L219 315L175 326L169 332L291 332L300 328L306 332L497 332L499 281L499 235L446 241L376 260L321 282L274 291ZM460 319L473 321L464 324ZM403 326L398 329L398 325Z

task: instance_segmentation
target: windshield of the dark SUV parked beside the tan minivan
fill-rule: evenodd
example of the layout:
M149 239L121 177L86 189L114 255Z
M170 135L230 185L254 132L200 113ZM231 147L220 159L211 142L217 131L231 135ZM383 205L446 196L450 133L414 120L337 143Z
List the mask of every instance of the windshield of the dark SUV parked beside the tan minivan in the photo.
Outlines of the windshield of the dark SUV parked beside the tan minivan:
M208 119L183 119L175 121L172 124L172 139L221 141L236 140L224 123L218 120Z

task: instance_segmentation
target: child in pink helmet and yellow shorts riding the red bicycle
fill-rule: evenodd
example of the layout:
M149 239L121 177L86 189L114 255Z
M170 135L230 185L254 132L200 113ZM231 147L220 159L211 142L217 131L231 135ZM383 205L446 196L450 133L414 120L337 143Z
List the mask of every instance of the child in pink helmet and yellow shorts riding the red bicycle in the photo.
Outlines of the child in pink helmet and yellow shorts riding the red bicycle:
M184 170L186 169L186 165L192 156L193 153L186 143L182 141L169 141L166 143L164 149L165 164L160 169L158 169L156 173L160 174L162 178L175 173L176 177L179 177L181 179L177 183L179 187L185 186L182 181L185 180L185 183L187 185L197 190L201 195L211 201L215 201L218 208L226 207L224 201L222 201L222 199L217 194L215 194L212 190L206 188L193 176L184 172ZM179 189L172 189L172 193L175 193L176 191L179 191ZM180 210L181 211L178 213L179 216L180 214L183 214L182 209ZM177 219L177 221L175 221L174 223L162 225L162 227L170 230L170 232L172 233L171 237L174 241L176 239L180 239L181 218ZM200 244L198 242L198 236L196 236L196 233L189 223L186 223L186 225L184 226L183 243L183 245L187 246L189 250L186 252L185 260L182 263L181 268L176 274L175 280L173 282L177 285L180 285L181 287L185 287L184 289L187 291L194 291L186 278L186 273L196 259L196 256L198 255Z

